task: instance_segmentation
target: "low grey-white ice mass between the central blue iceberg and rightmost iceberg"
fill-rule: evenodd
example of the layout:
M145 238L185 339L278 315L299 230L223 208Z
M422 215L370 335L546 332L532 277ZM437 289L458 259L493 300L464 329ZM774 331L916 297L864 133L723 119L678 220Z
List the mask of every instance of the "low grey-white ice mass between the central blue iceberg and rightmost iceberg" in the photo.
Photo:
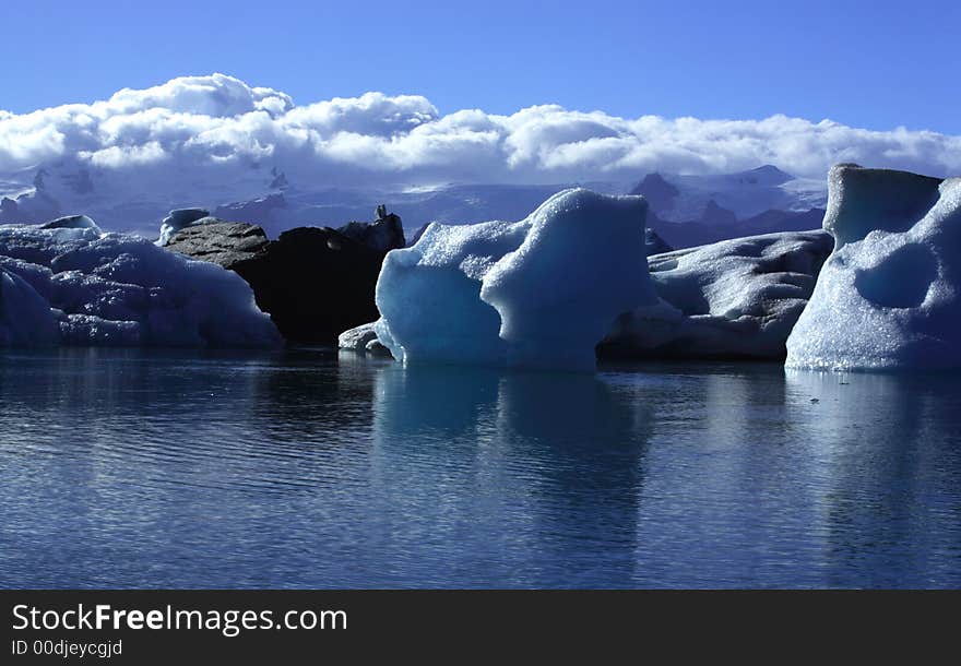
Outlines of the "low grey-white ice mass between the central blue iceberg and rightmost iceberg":
M783 358L833 240L784 231L649 258L663 300L618 318L602 356Z

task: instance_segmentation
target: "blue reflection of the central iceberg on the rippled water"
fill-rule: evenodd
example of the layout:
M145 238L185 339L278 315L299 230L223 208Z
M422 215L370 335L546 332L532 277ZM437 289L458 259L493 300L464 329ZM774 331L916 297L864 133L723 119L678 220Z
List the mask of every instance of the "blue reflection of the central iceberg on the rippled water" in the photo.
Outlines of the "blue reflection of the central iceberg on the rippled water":
M377 377L378 484L403 489L401 512L439 508L391 535L425 580L576 586L597 569L630 580L646 409L590 374L390 366ZM438 549L451 550L440 564Z

